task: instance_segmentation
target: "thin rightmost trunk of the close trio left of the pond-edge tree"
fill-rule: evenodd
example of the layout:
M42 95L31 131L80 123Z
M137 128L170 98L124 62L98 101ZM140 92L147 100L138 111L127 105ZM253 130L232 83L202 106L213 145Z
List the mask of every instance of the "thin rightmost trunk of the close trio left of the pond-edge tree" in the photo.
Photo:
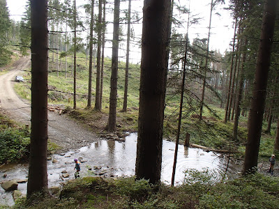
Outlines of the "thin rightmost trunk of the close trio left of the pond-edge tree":
M103 6L103 29L102 29L102 63L100 68L100 109L103 101L103 77L104 77L104 59L105 59L105 1Z

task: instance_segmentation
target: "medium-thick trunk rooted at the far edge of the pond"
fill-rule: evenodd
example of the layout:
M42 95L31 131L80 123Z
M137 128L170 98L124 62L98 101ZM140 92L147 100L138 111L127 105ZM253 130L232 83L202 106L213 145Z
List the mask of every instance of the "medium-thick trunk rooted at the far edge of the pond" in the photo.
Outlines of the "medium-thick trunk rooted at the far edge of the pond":
M110 114L107 130L116 130L117 106L117 73L118 73L118 48L119 48L119 7L120 0L114 0L114 31L112 40L112 76L110 77Z

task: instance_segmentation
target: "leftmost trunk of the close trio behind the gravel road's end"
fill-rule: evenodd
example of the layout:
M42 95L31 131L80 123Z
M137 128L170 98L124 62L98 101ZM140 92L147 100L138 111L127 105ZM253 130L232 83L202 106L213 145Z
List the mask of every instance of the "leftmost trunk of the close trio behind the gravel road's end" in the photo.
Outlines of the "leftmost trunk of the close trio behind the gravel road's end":
M87 107L91 107L92 98L92 57L93 57L93 21L94 21L94 0L91 0L91 20L90 20L90 38L89 38L89 79Z

